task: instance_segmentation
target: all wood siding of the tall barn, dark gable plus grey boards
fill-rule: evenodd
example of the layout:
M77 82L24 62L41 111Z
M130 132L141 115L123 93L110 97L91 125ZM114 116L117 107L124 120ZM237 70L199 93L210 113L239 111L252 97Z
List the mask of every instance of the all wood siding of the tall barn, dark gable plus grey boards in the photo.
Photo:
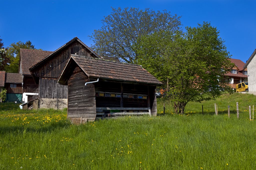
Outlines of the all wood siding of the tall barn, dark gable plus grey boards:
M68 87L57 84L62 69L64 68L70 54L95 57L87 48L78 41L74 41L58 53L44 61L37 69L33 70L39 77L39 97L66 99ZM57 89L58 88L58 89ZM58 96L57 96L58 91Z

